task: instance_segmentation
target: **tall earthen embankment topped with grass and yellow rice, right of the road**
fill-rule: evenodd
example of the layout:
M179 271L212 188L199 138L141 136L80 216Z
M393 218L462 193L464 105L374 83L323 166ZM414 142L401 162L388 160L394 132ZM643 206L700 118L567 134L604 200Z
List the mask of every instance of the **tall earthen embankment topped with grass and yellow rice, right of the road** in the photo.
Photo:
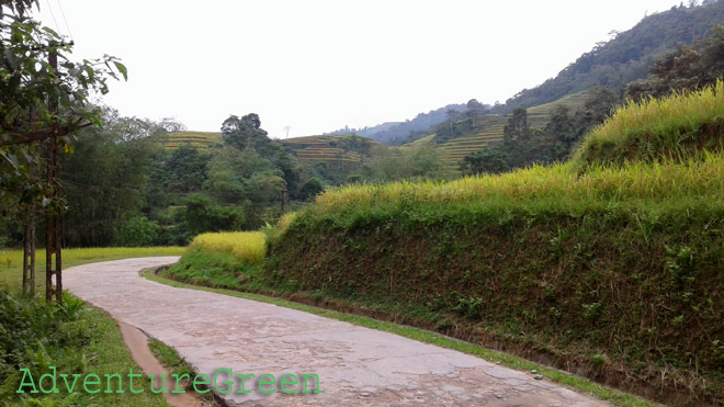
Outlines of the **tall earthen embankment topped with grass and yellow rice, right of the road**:
M719 83L618 111L573 162L326 192L262 275L657 399L721 402L721 117Z

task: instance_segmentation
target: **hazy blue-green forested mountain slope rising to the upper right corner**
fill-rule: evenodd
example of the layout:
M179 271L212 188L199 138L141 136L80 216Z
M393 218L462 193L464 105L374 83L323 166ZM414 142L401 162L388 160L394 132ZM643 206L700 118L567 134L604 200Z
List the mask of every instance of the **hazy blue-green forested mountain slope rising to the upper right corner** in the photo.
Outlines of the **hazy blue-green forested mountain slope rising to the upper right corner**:
M620 90L626 83L643 79L654 60L703 38L715 24L724 22L724 0L704 1L698 7L674 7L644 18L633 29L599 43L589 53L562 70L557 77L525 89L509 99L496 113L508 113L517 106L530 108L553 102L566 94L593 86Z

